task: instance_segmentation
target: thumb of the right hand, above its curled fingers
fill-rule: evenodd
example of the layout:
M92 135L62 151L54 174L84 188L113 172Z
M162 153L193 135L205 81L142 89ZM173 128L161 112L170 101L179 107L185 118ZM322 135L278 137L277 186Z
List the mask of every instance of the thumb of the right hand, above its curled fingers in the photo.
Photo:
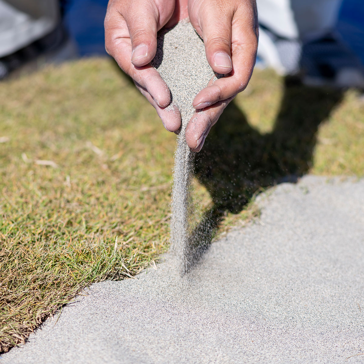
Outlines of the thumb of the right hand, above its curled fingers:
M231 72L232 17L221 12L221 9L211 9L204 19L201 19L200 24L207 62L217 73Z

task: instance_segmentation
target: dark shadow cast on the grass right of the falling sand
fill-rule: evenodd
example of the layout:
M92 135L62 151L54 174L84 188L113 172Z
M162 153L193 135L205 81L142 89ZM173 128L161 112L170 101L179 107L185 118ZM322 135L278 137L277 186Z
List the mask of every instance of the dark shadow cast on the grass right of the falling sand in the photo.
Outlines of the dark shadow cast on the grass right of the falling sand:
M273 91L272 91L273 92ZM273 131L251 127L234 102L211 129L195 161L195 175L210 191L214 206L191 234L187 273L209 248L225 212L239 213L260 188L296 182L312 166L318 126L343 93L285 79Z

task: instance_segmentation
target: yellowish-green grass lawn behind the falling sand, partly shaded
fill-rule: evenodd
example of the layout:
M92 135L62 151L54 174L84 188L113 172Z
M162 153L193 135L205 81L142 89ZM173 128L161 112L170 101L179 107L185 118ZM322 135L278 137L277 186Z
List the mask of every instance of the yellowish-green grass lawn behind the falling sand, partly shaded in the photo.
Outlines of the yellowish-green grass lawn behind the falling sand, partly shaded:
M93 282L168 247L175 135L109 59L0 83L0 351ZM254 72L211 130L196 195L221 228L256 213L260 187L364 171L364 103Z

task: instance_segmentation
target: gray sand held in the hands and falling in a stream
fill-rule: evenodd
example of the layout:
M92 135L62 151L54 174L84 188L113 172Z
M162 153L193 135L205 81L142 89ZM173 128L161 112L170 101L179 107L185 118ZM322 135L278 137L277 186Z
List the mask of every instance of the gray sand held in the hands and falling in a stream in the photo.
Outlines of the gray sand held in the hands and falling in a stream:
M157 54L151 63L170 88L172 104L181 112L182 126L174 156L171 201L171 246L180 275L188 270L191 255L191 222L194 206L189 196L194 153L185 139L187 123L194 115L192 101L207 86L214 72L205 56L202 40L188 21L158 33ZM199 111L202 112L202 111Z

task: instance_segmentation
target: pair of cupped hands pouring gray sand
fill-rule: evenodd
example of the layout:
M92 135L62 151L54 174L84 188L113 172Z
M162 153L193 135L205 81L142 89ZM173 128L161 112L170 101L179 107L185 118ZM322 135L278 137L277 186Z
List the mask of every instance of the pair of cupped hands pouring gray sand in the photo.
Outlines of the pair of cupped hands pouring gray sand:
M225 75L211 80L193 100L196 112L187 126L186 141L193 151L200 151L211 127L252 75L258 42L255 0L110 0L105 45L155 107L165 128L177 131L179 110L165 108L169 89L149 62L157 50L157 31L188 16L204 41L211 68Z

